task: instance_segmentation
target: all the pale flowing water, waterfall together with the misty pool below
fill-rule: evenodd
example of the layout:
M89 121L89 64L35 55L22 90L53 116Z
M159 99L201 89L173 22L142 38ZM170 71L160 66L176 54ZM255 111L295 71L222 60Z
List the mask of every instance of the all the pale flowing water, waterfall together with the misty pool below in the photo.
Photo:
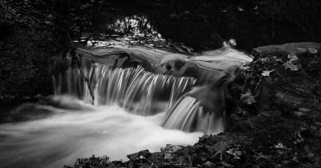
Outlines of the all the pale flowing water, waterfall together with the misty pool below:
M251 61L225 47L198 54L144 46L77 46L56 58L55 96L22 104L0 125L1 167L112 160L224 129L225 90ZM22 117L21 117L22 116ZM26 120L26 121L25 121Z

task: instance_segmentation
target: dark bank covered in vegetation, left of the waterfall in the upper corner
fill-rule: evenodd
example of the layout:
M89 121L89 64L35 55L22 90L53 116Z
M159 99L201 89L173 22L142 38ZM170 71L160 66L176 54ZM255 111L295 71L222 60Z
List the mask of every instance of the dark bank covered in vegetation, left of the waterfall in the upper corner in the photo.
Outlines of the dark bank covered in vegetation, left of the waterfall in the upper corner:
M0 102L52 93L53 56L70 45L68 34L88 32L107 3L0 1Z

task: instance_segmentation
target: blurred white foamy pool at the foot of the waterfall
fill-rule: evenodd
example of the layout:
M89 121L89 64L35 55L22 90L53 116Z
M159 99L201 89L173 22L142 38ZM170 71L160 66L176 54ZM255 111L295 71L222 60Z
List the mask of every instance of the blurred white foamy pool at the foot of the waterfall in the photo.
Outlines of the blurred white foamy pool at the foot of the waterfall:
M194 145L202 136L159 126L165 112L146 117L117 105L92 106L67 96L50 101L59 108L50 103L36 107L51 110L51 117L0 125L0 167L72 166L76 158L92 154L127 160L127 154L157 152L166 144Z

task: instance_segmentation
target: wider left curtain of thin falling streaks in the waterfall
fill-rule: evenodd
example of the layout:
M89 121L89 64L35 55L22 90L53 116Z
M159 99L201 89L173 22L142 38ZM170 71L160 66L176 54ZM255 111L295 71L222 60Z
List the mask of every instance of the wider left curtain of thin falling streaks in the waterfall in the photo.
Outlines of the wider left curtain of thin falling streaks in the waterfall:
M112 69L93 64L81 75L68 69L59 75L55 94L74 95L94 105L118 104L139 115L153 115L168 109L170 103L186 89L195 85L193 77L153 74L142 66ZM83 87L83 89L80 89ZM64 88L64 89L63 89Z

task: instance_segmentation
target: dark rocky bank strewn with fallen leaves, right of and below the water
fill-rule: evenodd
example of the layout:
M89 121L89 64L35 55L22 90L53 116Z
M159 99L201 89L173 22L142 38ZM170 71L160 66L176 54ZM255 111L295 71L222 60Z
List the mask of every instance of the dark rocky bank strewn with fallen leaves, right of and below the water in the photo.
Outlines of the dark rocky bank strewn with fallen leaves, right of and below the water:
M234 108L218 135L140 151L127 162L77 159L74 167L320 167L320 48L310 42L254 48L253 62L230 88Z

